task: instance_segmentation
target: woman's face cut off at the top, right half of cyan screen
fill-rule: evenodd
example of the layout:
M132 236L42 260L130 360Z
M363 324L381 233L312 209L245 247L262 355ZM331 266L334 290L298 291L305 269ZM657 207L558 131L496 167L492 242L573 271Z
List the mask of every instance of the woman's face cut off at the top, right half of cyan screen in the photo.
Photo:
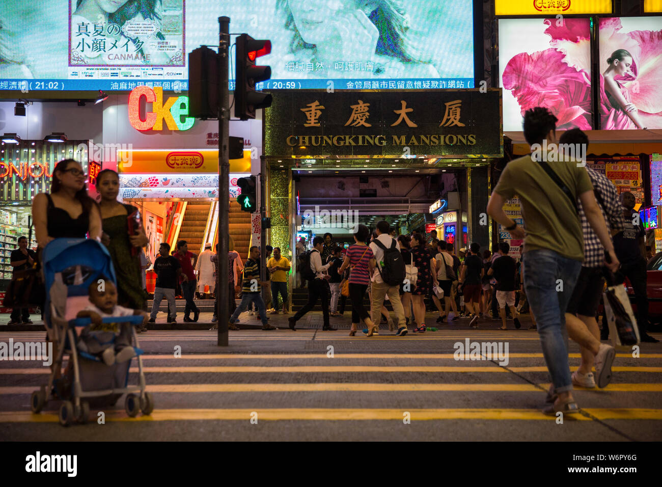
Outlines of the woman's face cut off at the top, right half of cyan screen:
M328 21L340 11L357 8L355 0L289 0L292 17L301 37L308 44L319 44L334 32Z

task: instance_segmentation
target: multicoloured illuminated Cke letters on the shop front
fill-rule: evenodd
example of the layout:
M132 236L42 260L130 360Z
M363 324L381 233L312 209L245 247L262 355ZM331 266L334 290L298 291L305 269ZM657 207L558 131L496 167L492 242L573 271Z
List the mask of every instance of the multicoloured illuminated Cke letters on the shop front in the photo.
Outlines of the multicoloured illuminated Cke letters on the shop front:
M152 111L145 109L145 116L140 116L140 99L145 97L147 103L152 103ZM139 131L167 129L171 131L187 131L193 127L195 118L189 117L189 97L169 97L164 103L162 87L150 88L138 86L128 95L128 121Z

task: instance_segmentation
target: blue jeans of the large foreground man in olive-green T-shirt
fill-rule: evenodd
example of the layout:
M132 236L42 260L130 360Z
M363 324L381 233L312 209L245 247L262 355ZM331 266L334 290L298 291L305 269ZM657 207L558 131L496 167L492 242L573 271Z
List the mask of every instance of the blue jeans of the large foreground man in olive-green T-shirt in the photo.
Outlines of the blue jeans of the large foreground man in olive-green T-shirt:
M570 391L573 383L568 364L565 310L577 284L581 262L547 249L524 252L523 259L524 290L536 317L551 382L557 394Z

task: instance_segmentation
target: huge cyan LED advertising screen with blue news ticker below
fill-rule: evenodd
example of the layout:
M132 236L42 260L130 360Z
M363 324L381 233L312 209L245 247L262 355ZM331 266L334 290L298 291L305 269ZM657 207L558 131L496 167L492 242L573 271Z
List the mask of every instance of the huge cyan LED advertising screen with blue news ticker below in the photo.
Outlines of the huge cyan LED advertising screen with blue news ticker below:
M473 87L472 0L3 0L0 90L187 90L223 15L271 40L259 89Z

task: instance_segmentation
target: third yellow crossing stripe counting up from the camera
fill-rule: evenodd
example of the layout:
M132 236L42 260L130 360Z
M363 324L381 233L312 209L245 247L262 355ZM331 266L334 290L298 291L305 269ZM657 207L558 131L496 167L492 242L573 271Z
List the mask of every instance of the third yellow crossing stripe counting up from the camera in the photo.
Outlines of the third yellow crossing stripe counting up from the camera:
M579 367L571 367L577 370ZM545 366L509 367L513 372L547 372ZM508 372L505 368L493 366L362 366L362 365L336 365L336 366L191 366L191 367L143 367L144 372L168 373L207 373L207 372L295 372L297 374L312 372ZM613 372L662 372L662 367L624 366L612 367ZM130 368L130 372L138 372L138 367ZM10 374L49 374L50 369L44 368L3 368L0 375Z

